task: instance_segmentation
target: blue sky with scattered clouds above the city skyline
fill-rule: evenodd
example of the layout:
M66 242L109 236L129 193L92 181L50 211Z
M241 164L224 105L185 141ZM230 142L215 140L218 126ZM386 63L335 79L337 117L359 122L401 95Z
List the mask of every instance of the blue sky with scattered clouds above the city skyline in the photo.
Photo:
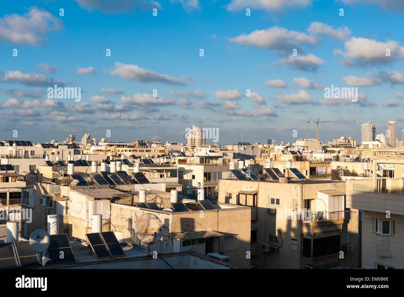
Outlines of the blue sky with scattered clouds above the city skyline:
M242 132L244 141L280 143L294 142L293 130L315 138L306 122L323 118L359 122L320 124L322 141L360 141L363 122L379 134L388 120L397 120L401 140L400 0L111 3L2 3L1 139L17 130L17 139L63 141L74 129L77 139L110 130L111 141L185 142L185 129L199 125L217 128L219 145ZM48 99L54 84L80 87L81 101ZM332 84L357 87L358 101L324 99Z

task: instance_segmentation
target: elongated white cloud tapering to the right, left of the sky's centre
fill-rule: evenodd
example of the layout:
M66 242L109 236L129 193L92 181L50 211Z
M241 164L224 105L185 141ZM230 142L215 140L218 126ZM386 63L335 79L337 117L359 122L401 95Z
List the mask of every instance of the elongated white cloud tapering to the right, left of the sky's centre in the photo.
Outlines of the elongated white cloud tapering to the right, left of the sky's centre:
M114 63L114 70L111 70L111 76L121 76L128 80L136 80L138 82L162 82L165 84L185 84L184 79L175 78L167 74L158 74L141 68L138 65L124 64L120 62Z

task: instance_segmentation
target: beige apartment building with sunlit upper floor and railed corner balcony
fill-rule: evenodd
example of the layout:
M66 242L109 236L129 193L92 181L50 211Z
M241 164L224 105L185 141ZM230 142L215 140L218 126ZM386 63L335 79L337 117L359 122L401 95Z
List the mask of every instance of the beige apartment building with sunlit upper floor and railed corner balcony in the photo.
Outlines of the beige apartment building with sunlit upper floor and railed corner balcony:
M219 181L219 202L251 208L251 265L259 269L357 268L358 210L344 198L338 181Z

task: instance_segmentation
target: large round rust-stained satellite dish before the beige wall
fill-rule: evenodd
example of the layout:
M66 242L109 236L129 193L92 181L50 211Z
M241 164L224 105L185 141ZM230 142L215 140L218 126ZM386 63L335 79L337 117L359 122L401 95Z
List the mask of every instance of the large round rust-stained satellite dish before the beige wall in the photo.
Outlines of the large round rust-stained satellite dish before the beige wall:
M163 236L163 223L152 213L141 215L135 226L137 237L146 244L154 244Z

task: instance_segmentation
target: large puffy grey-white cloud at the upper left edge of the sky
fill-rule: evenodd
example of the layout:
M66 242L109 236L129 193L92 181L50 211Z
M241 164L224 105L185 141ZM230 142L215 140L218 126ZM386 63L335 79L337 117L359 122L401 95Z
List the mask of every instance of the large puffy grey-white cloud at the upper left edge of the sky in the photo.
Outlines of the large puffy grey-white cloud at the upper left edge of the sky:
M49 32L59 30L62 22L51 13L32 6L24 15L4 15L0 18L0 40L17 44L40 44Z

